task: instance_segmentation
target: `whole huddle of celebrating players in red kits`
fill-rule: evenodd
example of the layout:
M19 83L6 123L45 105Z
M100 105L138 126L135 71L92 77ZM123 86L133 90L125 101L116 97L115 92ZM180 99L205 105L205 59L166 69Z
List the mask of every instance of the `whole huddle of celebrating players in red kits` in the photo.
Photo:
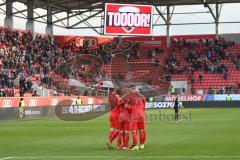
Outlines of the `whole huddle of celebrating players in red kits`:
M118 88L109 95L110 132L109 149L113 149L113 141L117 138L117 149L144 149L146 141L145 104L146 99L137 89ZM129 146L132 134L133 144ZM139 142L138 142L139 137Z

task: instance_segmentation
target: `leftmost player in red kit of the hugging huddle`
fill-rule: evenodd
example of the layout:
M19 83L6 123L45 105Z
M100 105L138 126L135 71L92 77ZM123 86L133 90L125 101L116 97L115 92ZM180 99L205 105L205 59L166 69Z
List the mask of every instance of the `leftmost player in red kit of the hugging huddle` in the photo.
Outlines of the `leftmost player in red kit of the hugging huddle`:
M120 103L120 96L117 94L117 91L113 89L113 91L109 95L109 104L110 104L110 131L108 135L108 142L106 145L109 149L113 149L112 142L116 139L119 134L119 103Z

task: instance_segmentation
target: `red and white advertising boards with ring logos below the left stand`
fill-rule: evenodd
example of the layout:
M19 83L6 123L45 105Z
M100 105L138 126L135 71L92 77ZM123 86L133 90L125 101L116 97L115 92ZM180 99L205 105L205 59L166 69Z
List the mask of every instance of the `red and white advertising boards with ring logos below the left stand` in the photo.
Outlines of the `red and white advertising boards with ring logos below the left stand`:
M73 103L76 101L76 96L58 96L58 97L23 97L25 105L28 107L44 107L56 106L61 101L71 100ZM80 96L83 104L102 104L101 97L87 97ZM20 97L2 97L0 98L1 107L18 107Z

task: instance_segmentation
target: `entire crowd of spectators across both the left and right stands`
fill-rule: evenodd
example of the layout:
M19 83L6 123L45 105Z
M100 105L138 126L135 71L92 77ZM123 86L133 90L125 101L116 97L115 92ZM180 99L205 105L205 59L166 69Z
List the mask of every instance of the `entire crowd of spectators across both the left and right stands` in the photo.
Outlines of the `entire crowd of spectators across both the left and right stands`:
M224 39L199 42L187 42L186 40L174 40L171 53L166 58L164 74L161 79L171 81L171 74L189 74L189 80L195 83L193 73L204 71L205 73L222 74L223 79L228 80L228 67L222 60L231 60L234 68L239 70L240 54L229 53L229 47L234 42ZM130 46L130 49L129 49ZM60 47L54 39L48 36L35 35L29 32L14 31L8 28L0 28L0 96L14 96L15 89L19 89L20 96L25 93L36 95L33 83L29 77L40 75L43 87L66 92L67 86L56 82L51 73L57 73L63 79L74 78L81 82L94 85L98 81L106 80L106 72L101 71L102 64L109 64L112 52L100 45L89 48L88 43L82 47L76 46L74 41L69 41L64 47ZM110 46L112 47L112 46ZM138 43L122 43L119 46L126 52L129 60L139 59L140 50ZM156 54L158 49L149 50L149 58L156 64L159 61ZM177 53L183 53L186 65L180 64ZM91 55L84 57L82 55ZM199 75L201 82L203 75ZM229 93L234 87L240 88L239 82L235 86L223 86L219 93ZM212 89L209 89L212 92ZM69 94L69 93L66 93Z

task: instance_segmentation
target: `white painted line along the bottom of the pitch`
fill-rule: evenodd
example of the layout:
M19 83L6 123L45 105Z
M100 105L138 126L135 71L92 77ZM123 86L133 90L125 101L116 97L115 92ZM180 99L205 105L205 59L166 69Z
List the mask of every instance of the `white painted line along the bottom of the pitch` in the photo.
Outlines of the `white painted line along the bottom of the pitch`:
M240 158L240 156L24 156L24 157L6 157L7 159L79 159L79 158L113 158L113 159L121 159L121 158L128 158L128 159L177 159L177 158ZM5 158L5 159L6 159ZM0 159L0 160L5 160Z

